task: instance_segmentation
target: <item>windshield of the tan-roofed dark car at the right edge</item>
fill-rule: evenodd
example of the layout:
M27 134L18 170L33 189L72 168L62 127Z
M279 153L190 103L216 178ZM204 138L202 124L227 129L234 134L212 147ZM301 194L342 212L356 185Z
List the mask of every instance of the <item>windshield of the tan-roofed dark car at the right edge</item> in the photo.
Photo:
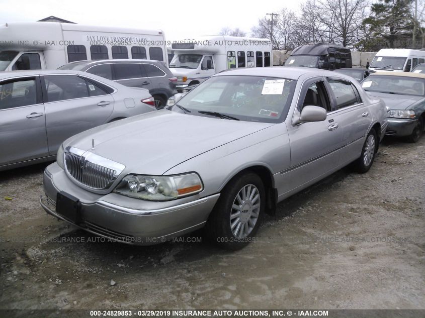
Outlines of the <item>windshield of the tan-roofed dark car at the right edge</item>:
M425 80L422 78L391 75L370 75L362 82L362 87L366 91L424 96L424 84Z

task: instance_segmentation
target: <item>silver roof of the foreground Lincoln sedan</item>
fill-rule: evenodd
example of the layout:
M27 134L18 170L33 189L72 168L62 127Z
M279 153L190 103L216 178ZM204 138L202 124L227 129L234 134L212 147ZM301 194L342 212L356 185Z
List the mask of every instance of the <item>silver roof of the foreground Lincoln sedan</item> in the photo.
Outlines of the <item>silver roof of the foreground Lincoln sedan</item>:
M268 76L268 77L281 77L297 80L303 75L320 76L332 75L332 71L327 71L311 67L299 66L273 66L273 67L250 67L250 68L235 68L231 72L218 73L214 76Z

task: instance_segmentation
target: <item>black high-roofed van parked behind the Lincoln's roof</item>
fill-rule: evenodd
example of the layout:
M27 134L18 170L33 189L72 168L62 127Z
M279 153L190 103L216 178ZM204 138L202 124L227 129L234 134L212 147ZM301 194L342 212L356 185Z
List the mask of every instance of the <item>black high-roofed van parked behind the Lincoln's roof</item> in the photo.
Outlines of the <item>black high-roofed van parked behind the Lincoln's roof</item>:
M334 70L353 67L351 51L334 44L308 44L294 49L285 66L306 66Z

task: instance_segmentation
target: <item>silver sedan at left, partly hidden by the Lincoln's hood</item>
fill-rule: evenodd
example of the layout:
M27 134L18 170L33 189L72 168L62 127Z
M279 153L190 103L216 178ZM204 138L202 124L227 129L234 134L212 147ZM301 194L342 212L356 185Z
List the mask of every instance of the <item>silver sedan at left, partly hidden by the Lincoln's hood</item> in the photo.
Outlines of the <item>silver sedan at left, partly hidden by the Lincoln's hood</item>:
M53 160L84 130L154 111L142 88L78 71L0 73L0 171Z

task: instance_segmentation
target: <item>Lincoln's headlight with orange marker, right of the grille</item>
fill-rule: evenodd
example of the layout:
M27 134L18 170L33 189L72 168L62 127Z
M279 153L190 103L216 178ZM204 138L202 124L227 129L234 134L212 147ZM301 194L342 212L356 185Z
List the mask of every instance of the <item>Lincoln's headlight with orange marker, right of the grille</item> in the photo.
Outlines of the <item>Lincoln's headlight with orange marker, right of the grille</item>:
M114 192L142 200L167 201L192 195L204 189L196 173L172 176L126 175Z

